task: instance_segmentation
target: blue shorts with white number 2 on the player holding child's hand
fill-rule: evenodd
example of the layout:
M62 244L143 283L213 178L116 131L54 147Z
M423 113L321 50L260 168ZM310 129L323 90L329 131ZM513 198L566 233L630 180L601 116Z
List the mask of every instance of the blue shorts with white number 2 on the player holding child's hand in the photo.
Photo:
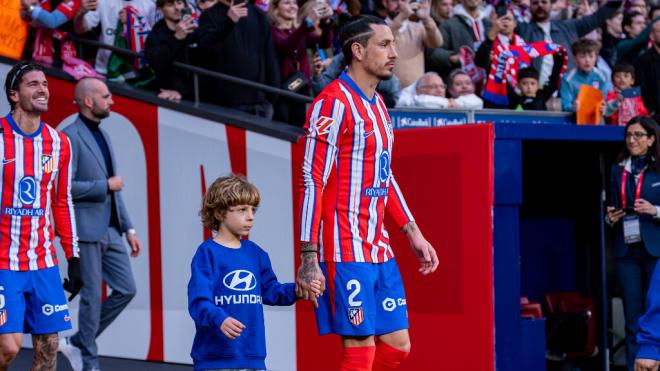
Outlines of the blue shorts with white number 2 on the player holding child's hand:
M321 263L327 290L319 298L319 335L369 336L408 328L408 306L396 261Z

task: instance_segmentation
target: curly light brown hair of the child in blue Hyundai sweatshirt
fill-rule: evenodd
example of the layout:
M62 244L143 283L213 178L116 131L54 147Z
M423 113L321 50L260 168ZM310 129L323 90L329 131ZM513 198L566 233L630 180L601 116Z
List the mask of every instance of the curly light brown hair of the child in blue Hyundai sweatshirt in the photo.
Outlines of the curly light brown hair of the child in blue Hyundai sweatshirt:
M199 216L204 227L217 231L229 208L237 205L257 207L260 201L259 190L244 176L223 176L216 179L206 190Z

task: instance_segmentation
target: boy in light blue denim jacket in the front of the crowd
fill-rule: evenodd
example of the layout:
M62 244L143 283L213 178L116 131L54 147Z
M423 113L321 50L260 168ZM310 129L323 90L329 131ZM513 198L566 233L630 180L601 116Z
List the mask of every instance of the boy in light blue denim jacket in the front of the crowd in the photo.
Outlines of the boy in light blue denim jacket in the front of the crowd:
M589 85L607 95L607 76L596 68L598 59L598 42L590 39L579 39L571 45L575 56L576 67L564 74L561 80L561 108L565 112L577 112L579 105L577 96L582 85Z

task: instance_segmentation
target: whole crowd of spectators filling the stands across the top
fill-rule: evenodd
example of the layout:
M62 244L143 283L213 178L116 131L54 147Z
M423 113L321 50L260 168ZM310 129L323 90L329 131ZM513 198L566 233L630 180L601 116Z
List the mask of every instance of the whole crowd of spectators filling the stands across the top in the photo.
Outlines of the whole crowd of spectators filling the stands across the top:
M174 62L313 97L345 67L342 24L374 14L397 46L394 77L378 87L389 107L575 112L585 85L602 94L608 124L660 107L658 0L22 0L21 9L33 26L26 56L171 101L194 97L192 73ZM141 57L89 45L79 56L71 34ZM293 98L198 81L204 101L303 124Z

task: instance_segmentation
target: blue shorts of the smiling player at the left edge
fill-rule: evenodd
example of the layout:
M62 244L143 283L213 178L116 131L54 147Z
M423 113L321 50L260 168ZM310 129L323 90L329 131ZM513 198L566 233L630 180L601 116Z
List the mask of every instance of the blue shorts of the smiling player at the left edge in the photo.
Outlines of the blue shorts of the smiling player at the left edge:
M0 334L52 334L71 328L57 266L0 270Z

